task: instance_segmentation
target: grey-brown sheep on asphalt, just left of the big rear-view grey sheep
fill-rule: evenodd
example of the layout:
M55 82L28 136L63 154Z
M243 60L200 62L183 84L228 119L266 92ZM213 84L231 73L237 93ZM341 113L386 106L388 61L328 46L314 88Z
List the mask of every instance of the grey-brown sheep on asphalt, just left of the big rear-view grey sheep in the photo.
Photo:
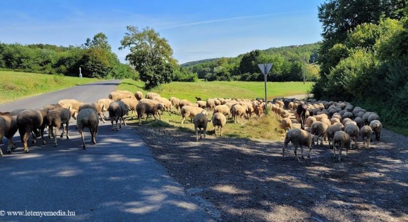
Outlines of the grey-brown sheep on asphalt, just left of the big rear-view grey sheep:
M61 138L64 136L65 128L64 124L67 129L67 139L70 139L68 134L68 126L69 120L71 119L71 115L73 114L74 110L68 110L66 108L50 110L47 113L47 125L48 125L48 134L52 135L54 139L54 147L58 146L57 135L59 131L59 127L62 126L62 133ZM52 127L55 127L55 132L52 131Z

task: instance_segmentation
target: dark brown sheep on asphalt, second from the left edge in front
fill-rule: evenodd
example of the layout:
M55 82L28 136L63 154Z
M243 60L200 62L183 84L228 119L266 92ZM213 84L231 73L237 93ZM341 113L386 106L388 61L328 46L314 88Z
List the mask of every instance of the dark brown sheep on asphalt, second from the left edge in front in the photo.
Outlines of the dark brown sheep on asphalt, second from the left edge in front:
M21 143L23 143L24 146L24 152L29 152L27 141L30 133L32 133L33 136L33 144L36 143L36 138L40 136L43 139L43 144L45 144L44 135L42 133L42 131L44 131L42 127L44 126L45 116L45 110L24 110L18 113L16 122ZM39 129L40 131L38 131Z

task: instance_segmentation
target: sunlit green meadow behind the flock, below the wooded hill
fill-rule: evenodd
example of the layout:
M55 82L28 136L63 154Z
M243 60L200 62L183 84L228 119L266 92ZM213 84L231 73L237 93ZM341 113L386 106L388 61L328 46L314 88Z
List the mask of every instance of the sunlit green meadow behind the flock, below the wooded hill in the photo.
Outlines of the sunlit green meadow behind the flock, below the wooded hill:
M125 79L118 86L120 90L131 92L143 90L143 82ZM280 96L302 95L311 89L313 82L268 82L268 100ZM179 99L187 99L195 102L194 97L201 97L203 100L213 97L255 99L264 97L264 82L240 82L240 81L198 81L198 82L171 82L164 84L157 89L151 90L169 99L175 96Z

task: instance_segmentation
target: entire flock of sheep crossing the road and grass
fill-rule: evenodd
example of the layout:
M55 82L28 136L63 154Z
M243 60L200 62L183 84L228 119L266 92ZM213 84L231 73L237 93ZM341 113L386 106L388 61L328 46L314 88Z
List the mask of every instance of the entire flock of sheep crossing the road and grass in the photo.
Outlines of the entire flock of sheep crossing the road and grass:
M112 130L118 131L123 124L124 116L131 113L133 117L135 112L139 121L152 115L157 121L156 116L161 118L163 111L170 115L173 113L181 114L181 124L186 118L190 118L194 124L196 140L198 141L198 130L200 138L206 136L207 124L212 122L215 127L215 135L222 136L223 128L227 123L227 117L232 118L235 123L242 121L244 117L251 118L255 114L258 118L264 112L264 109L273 111L281 117L281 128L287 131L285 136L282 158L284 158L285 148L289 142L295 147L296 159L297 148L301 148L301 157L303 157L303 147L307 146L309 150L308 157L312 150L312 144L317 143L320 138L320 144L323 139L333 144L335 156L336 145L339 146L339 161L342 148L351 148L354 141L354 148L357 148L357 138L361 136L369 147L372 132L375 133L377 141L380 139L381 122L376 113L367 112L360 107L353 107L347 102L327 102L327 101L300 101L296 99L280 98L265 103L262 99L224 99L213 98L202 101L196 97L197 102L180 100L171 97L169 100L161 97L157 93L149 92L143 97L143 94L137 91L135 94L129 91L117 90L109 94L108 99L100 99L95 103L82 103L73 99L60 100L57 104L51 104L41 109L20 109L10 112L0 112L0 139L8 139L7 152L15 149L12 137L19 131L21 142L24 145L24 151L28 152L28 139L32 134L32 144L36 143L37 138L42 138L42 144L45 143L44 130L48 128L48 137L54 140L54 146L58 146L57 135L59 128L62 127L62 138L66 131L66 138L69 139L68 126L69 120L73 117L77 121L77 128L81 134L83 148L86 148L83 130L85 127L90 129L91 141L96 143L95 137L98 130L99 121L105 122L104 113L109 112L109 119L112 124ZM285 110L286 108L286 110ZM292 120L289 118L288 110L293 110L294 115L301 129L292 127ZM208 112L212 111L213 116L208 120ZM227 117L226 117L227 116ZM100 120L99 120L100 119ZM118 124L119 121L119 124ZM115 124L116 123L116 127ZM65 127L64 127L65 124ZM308 127L307 130L305 126ZM55 128L55 129L54 129ZM219 133L217 133L217 129ZM0 155L2 155L0 149Z

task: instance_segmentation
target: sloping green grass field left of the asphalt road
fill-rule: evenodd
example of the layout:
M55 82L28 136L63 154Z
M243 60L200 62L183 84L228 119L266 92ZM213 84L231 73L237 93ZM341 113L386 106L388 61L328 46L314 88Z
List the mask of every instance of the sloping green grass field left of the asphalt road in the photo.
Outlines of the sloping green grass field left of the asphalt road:
M0 104L97 80L95 78L0 71Z

